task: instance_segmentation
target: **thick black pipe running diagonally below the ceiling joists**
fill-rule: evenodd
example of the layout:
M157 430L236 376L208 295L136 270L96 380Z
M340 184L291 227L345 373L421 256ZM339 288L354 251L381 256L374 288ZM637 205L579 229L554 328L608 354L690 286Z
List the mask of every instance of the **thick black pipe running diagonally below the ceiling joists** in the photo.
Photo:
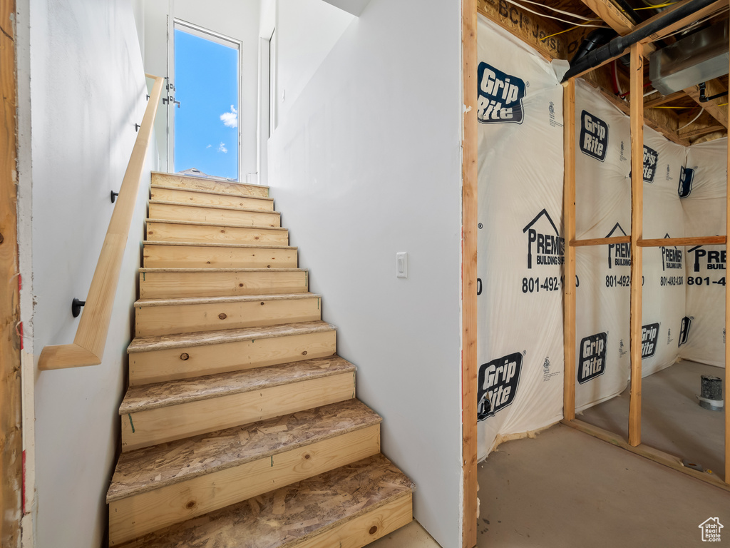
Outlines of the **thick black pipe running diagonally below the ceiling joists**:
M580 61L576 64L571 64L568 72L563 77L563 82L569 80L575 75L579 75L582 72L593 69L595 66L603 64L605 61L609 61L612 58L621 56L627 47L640 42L641 40L650 37L652 34L661 31L662 28L677 23L688 15L692 15L694 12L715 3L715 0L693 0L688 4L684 4L682 7L675 9L672 12L667 13L664 17L658 18L653 23L648 24L642 28L626 34L626 36L620 36L612 39L606 45L599 47L597 50L589 51Z

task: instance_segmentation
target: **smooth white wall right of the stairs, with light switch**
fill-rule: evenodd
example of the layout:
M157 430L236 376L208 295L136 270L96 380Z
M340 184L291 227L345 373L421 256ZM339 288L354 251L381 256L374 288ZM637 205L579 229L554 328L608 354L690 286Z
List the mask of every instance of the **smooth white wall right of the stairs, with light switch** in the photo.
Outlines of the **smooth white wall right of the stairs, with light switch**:
M461 547L461 105L461 2L372 0L269 140L300 265L445 548Z

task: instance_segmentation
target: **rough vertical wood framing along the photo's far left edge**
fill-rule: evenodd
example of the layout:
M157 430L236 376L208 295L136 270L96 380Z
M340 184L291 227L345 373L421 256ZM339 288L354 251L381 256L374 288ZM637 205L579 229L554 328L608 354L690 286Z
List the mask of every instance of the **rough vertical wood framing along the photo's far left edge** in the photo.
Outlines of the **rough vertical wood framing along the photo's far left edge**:
M0 0L0 545L20 546L23 514L23 439L20 415L20 296L18 213L15 175L18 159L15 68L15 0Z

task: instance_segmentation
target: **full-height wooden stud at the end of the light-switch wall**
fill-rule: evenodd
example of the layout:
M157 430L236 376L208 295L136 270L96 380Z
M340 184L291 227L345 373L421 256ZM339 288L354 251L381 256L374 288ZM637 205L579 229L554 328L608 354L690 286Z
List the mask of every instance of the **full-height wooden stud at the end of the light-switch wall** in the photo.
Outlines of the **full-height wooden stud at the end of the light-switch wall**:
M477 0L461 3L461 545L477 544Z

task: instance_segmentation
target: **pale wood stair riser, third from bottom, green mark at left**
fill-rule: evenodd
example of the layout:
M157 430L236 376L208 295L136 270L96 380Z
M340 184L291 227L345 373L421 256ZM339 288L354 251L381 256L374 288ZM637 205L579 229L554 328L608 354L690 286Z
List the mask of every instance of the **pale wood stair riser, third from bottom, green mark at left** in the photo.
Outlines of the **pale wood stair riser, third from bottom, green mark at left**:
M247 425L352 397L355 397L355 376L342 373L126 414L121 417L122 452Z

